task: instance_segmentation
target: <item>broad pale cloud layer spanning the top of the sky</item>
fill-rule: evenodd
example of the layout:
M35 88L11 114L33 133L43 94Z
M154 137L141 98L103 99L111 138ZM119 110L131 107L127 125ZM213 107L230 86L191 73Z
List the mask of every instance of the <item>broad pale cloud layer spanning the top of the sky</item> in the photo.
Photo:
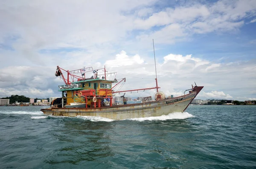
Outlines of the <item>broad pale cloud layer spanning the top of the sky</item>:
M155 9L155 3L159 2L4 1L0 6L0 22L5 23L0 41L16 35L12 47L29 58L38 55L40 49L69 46L90 50L92 46L126 42L130 32L137 29L142 31L137 36L142 42L154 37L158 43L174 43L195 33L236 30L244 24L242 19L255 16L256 9L253 0L220 0L161 10ZM153 29L156 26L160 28Z

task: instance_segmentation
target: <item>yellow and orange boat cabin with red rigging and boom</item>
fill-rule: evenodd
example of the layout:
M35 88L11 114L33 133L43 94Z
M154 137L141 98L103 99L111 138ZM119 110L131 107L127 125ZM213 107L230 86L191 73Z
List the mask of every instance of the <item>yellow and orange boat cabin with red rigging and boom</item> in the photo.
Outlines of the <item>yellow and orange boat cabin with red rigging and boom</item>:
M98 72L103 72L98 74ZM58 91L62 92L62 98L59 98L57 106L66 108L90 108L112 106L112 95L114 93L132 92L139 90L158 89L153 88L134 89L126 91L113 91L121 82L125 83L125 78L116 80L116 72L106 73L105 66L102 69L93 70L92 67L68 71L57 66L55 76L60 76L64 80L64 85L58 86ZM66 75L66 77L64 76ZM107 75L114 74L114 80L107 80ZM92 76L91 76L92 75ZM156 85L157 85L157 79ZM115 83L115 84L113 84ZM121 85L122 86L122 85ZM61 99L61 103L60 102ZM54 103L54 102L53 102ZM53 104L52 104L53 105ZM56 104L54 104L56 105Z

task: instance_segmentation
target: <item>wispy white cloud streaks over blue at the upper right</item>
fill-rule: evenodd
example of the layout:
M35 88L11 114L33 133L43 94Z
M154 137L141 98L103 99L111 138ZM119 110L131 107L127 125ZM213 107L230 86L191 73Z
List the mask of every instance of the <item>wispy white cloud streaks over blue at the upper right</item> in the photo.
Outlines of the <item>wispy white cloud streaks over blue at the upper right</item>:
M138 35L137 39L142 42L154 37L158 43L174 43L187 40L193 34L237 31L244 25L242 19L256 15L255 9L253 0L219 0L211 5L194 3L191 6L166 8L146 19L136 19L134 23L137 29L160 27L146 36Z

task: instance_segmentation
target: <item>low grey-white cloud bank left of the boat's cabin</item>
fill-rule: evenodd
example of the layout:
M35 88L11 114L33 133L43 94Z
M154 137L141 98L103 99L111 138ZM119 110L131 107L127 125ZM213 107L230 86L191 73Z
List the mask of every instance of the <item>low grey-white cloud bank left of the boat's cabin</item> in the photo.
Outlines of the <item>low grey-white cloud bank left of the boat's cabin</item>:
M47 67L10 66L0 69L0 97L47 98L54 95L53 89L58 89L59 82L52 81L51 75L53 72L48 72Z

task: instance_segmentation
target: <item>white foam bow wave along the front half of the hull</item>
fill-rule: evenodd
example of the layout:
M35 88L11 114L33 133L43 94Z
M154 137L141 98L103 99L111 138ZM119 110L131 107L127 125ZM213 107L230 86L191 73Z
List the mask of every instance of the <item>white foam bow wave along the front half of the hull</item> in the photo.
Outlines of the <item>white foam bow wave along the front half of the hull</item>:
M137 121L145 121L145 120L172 120L172 119L186 119L189 117L194 117L193 115L189 114L188 112L174 112L170 113L169 115L161 115L157 117L140 117L140 118L131 118L127 120L137 120Z

